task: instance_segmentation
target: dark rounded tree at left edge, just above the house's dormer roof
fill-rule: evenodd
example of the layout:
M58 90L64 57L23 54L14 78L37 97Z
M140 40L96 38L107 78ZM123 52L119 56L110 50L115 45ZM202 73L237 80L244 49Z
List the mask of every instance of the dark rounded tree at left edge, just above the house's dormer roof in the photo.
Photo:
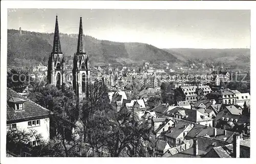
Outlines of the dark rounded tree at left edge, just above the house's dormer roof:
M7 72L7 87L16 92L23 92L33 81L30 71L12 68Z

